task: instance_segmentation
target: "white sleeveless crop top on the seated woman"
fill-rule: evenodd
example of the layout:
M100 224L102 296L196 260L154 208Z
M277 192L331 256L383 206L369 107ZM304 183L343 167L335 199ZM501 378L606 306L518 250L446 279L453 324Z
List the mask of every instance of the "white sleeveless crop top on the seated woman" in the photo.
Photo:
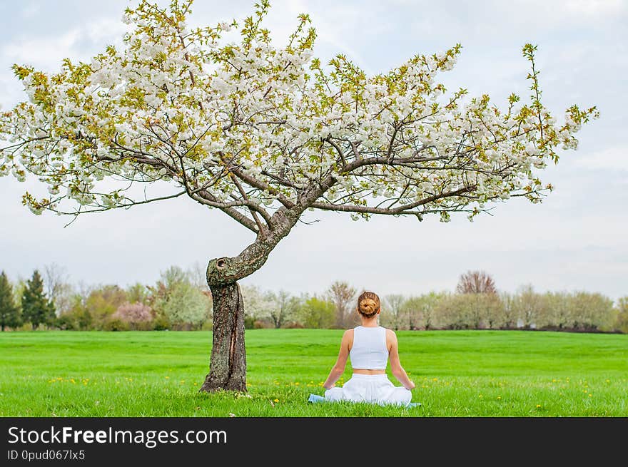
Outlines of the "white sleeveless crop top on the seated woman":
M385 370L388 363L385 327L353 328L353 346L349 351L354 369Z

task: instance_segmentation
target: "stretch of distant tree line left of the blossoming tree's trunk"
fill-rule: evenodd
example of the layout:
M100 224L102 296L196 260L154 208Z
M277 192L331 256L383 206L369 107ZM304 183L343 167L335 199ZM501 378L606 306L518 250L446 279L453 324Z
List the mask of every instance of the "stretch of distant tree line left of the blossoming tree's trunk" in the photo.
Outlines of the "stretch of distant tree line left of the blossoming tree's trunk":
M173 266L155 284L78 286L58 265L11 284L0 273L1 329L211 329L211 293L203 272Z

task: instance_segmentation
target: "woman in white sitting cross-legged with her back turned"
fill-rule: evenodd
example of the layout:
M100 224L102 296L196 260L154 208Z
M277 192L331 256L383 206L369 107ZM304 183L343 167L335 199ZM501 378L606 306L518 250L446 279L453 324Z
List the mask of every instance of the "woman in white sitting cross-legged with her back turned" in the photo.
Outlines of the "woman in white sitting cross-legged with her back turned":
M338 360L323 384L325 399L409 405L415 384L407 377L399 361L395 332L378 325L380 297L373 292L363 292L358 297L358 314L362 325L343 334ZM343 387L335 387L335 382L345 371L348 357L353 375ZM388 379L388 361L390 371L402 386L395 386Z

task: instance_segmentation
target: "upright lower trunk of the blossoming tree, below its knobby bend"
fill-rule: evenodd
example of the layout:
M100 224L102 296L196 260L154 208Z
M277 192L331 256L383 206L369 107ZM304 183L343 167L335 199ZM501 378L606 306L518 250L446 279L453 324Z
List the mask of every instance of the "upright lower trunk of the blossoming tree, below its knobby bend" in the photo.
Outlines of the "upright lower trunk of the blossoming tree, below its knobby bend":
M246 391L244 303L238 282L210 284L213 333L209 374L201 391Z

